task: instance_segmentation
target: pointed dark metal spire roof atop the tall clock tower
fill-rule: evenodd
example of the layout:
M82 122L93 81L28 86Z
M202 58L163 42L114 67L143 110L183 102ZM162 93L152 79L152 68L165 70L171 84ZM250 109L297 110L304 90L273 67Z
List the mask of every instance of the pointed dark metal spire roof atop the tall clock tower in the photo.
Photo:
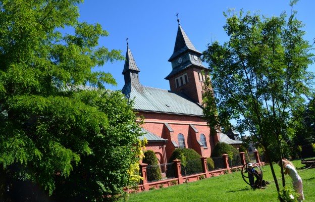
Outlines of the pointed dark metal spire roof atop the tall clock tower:
M179 19L178 19L179 21ZM186 51L193 51L199 55L201 53L194 47L194 45L191 43L189 40L188 36L180 26L178 22L178 30L177 30L177 35L176 35L176 41L175 41L175 46L174 46L174 52L169 61L171 62L173 58L176 58L180 54L186 52Z

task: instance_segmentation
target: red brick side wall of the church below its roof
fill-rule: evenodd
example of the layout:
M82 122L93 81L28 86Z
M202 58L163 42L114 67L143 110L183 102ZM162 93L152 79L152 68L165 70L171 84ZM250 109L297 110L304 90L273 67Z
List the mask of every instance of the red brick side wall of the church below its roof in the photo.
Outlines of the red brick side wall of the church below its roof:
M206 121L202 117L196 116L184 116L162 113L148 113L140 112L140 115L145 117L142 127L155 135L158 135L164 139L168 139L165 143L166 161L169 160L175 146L172 141L178 144L178 134L181 133L185 138L186 148L193 148L197 153L204 157L211 156L211 150L214 144L218 141L217 137L210 136L210 129L206 125ZM173 129L170 131L165 123ZM198 132L195 132L190 126L192 124ZM206 137L207 148L200 146L197 140L200 141L200 134L204 134ZM164 153L162 149L163 143L149 143L146 149L151 149L155 152L160 162L164 162Z

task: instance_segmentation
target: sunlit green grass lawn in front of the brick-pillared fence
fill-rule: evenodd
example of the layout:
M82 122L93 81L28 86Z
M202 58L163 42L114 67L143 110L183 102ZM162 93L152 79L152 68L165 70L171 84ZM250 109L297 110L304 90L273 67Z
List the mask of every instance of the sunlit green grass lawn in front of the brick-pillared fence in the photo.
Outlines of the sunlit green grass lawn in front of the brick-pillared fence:
M297 168L302 167L300 160L292 162ZM274 164L277 178L281 178L280 167ZM266 189L251 189L248 184L243 181L241 172L235 172L222 176L198 180L186 184L170 186L161 189L154 189L140 193L132 193L129 195L128 201L253 201L267 202L278 201L277 188L273 181L270 166L261 167L263 179L270 181ZM305 201L315 202L315 169L298 170L303 181L303 192ZM246 173L245 173L246 174ZM247 175L247 174L246 174ZM292 180L286 177L286 185L292 187ZM282 181L279 181L282 187ZM123 199L121 200L123 201Z

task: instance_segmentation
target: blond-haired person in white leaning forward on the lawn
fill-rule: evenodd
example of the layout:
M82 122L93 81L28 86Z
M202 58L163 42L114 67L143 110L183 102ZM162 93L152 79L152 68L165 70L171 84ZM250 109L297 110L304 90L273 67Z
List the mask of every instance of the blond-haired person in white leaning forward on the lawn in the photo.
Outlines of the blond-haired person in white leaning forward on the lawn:
M281 161L278 162L278 165L281 167ZM284 174L289 174L293 182L293 188L299 194L299 200L304 200L303 194L303 183L301 177L297 174L297 171L294 165L288 161L287 159L282 160L282 166L284 170Z

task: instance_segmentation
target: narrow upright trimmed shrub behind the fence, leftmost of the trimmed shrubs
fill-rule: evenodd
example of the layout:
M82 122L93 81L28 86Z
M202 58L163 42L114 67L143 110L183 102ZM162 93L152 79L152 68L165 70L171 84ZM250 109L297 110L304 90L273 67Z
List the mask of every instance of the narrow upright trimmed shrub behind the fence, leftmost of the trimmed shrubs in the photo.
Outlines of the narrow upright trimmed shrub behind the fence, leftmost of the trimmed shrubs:
M147 164L148 166L159 165L158 158L156 158L153 150L146 150L143 153L144 158L142 163ZM147 180L148 181L158 181L162 179L160 166L151 167L150 170L147 169Z

